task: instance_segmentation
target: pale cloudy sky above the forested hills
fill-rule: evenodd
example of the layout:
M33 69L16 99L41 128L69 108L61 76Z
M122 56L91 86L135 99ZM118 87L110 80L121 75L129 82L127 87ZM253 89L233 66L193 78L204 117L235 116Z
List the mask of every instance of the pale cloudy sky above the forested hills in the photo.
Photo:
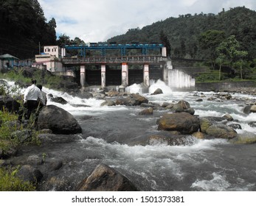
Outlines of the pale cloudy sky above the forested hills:
M103 42L128 29L166 18L195 13L218 14L233 7L256 10L256 0L38 0L56 33L89 42Z

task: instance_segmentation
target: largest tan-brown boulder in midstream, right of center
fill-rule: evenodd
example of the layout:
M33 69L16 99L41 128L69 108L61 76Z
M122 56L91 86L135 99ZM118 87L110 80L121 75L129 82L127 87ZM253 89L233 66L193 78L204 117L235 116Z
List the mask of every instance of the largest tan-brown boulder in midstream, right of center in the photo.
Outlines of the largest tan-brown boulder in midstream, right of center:
M192 134L200 127L199 119L189 113L167 113L158 121L159 130L179 131L181 134Z

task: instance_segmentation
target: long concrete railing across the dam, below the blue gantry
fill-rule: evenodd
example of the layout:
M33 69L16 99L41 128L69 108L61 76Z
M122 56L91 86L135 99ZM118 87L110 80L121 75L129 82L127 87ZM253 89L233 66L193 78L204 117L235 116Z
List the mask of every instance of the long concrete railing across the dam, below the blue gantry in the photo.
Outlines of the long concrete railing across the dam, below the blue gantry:
M93 63L161 63L166 60L162 56L125 56L125 57L64 57L64 64Z

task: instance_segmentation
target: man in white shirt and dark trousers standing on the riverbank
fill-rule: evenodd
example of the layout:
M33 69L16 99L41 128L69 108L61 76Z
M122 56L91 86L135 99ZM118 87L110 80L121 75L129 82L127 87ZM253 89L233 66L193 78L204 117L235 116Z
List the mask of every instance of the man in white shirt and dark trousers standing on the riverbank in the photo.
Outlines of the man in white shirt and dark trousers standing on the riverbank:
M25 90L24 104L27 103L27 119L30 119L31 113L38 108L38 99L45 105L41 90L36 86L36 80L32 79L32 85Z

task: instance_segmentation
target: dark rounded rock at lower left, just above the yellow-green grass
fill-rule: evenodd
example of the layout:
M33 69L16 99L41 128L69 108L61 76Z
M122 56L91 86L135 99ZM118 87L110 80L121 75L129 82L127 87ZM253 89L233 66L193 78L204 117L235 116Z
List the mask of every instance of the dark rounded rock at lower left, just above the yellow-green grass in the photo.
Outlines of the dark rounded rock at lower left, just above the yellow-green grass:
M38 183L42 179L43 174L37 168L30 165L24 165L18 170L17 176L24 181Z

